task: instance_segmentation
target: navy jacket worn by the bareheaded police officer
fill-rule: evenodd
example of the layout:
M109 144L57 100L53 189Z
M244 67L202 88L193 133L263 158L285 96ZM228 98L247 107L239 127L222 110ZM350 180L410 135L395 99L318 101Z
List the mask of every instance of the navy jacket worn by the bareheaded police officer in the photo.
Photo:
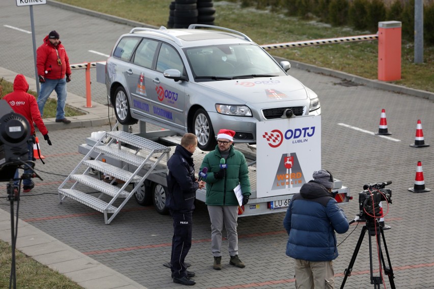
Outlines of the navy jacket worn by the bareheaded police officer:
M168 197L166 206L179 213L191 213L195 209L196 190L195 164L192 153L177 145L175 153L167 162Z

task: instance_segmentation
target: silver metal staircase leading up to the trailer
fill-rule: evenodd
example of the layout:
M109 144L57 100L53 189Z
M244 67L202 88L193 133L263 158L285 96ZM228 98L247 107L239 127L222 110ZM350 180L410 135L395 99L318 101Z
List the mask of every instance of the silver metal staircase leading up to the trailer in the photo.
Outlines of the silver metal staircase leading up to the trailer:
M103 140L104 142L102 142ZM166 157L166 160L169 159L169 152L170 148L138 135L124 131L105 132L59 186L59 201L62 203L66 197L76 200L103 213L105 224L110 224L148 176L159 172L154 170L154 168L164 157ZM96 157L90 159L90 156L95 155L95 153L97 154ZM125 165L119 168L108 164L104 162L105 156L120 160ZM83 168L85 170L80 174L79 171L83 170ZM114 179L108 184L103 180L89 176L91 168L104 172ZM139 176L142 168L146 168L147 172L144 176ZM114 186L113 183L116 180L121 180L125 183L122 187ZM131 183L135 184L134 188L131 191L127 191L126 188ZM70 184L72 185L67 188L66 186ZM95 197L80 191L78 187L82 188L83 186L97 190L101 194ZM104 195L111 197L108 203L101 199ZM113 204L118 198L123 198L124 200L118 207L115 207ZM110 218L108 214L112 214Z

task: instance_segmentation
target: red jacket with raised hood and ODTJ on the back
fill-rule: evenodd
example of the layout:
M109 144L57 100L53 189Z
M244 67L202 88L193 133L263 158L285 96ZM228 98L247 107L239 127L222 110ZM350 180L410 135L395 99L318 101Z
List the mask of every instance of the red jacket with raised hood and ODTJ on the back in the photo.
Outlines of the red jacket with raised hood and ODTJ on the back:
M35 122L42 135L48 133L47 128L41 118L41 112L39 112L38 104L33 95L28 94L29 83L25 80L24 75L18 74L14 80L14 92L11 92L3 98L12 107L14 112L21 114L30 124L31 134L35 133Z

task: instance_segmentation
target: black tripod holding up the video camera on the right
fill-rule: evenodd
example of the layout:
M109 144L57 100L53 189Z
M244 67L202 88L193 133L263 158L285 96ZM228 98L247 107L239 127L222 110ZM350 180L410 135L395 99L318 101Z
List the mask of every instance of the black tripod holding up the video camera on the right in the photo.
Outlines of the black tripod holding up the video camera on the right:
M355 222L358 220L359 220L359 217L352 220L350 222L350 224L352 222ZM390 286L392 289L395 289L395 282L393 281L393 278L395 278L395 277L393 276L392 264L390 263L389 252L387 250L387 245L386 245L386 238L384 237L384 230L383 230L383 227L379 225L379 222L377 219L372 219L372 220L367 219L366 220L366 224L362 228L362 232L360 233L359 241L357 242L356 248L354 249L354 253L352 253L351 261L349 262L348 268L345 269L345 271L344 271L345 276L344 276L343 281L342 281L341 289L343 289L343 287L345 285L346 278L351 275L352 267L354 266L354 263L356 262L357 253L359 252L360 246L362 245L363 237L365 236L366 231L368 231L368 234L369 234L369 266L370 266L370 273L371 273L371 284L374 284L375 289L380 289L380 284L383 283L383 273L381 271L379 272L380 273L379 276L373 276L372 238L371 238L371 236L375 236L377 244L378 244L379 257L380 257L381 262L383 264L384 274L389 276ZM378 232L381 234L381 236L383 238L384 249L386 252L387 262L388 262L389 267L386 267L383 251L381 248L380 235L377 234Z

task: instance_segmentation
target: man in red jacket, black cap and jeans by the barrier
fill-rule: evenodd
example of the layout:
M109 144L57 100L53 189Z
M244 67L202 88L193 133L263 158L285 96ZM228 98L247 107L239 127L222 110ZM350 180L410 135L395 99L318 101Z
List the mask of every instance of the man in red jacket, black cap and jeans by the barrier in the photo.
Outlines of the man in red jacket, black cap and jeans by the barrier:
M59 33L51 31L44 38L44 44L36 50L36 68L38 70L41 91L38 96L38 107L41 116L45 102L53 90L57 93L56 122L69 124L65 118L66 82L71 81L71 68L65 47L59 40ZM66 75L66 78L65 78Z

